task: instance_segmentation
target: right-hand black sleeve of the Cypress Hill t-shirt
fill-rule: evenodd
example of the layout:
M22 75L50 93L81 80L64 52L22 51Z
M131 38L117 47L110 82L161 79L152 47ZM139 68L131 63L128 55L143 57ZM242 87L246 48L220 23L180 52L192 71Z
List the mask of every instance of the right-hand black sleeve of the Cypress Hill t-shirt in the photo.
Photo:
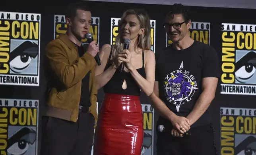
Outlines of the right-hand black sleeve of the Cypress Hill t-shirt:
M220 77L218 55L211 46L204 49L202 77Z

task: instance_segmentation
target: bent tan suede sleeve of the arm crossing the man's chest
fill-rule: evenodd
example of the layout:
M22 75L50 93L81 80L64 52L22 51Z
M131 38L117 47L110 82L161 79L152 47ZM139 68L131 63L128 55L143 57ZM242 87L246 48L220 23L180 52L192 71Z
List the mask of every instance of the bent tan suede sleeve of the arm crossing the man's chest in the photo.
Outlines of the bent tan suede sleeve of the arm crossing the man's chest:
M78 83L95 66L94 57L85 53L78 61L70 66L63 45L54 40L45 49L48 66L64 84L66 89Z

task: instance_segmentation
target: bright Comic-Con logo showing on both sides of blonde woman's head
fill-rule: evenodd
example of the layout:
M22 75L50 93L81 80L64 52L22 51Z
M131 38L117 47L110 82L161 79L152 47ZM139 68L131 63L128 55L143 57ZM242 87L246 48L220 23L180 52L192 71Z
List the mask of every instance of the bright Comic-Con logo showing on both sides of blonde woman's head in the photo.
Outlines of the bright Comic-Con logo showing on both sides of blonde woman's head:
M111 45L114 45L116 42L116 36L118 35L119 21L120 21L120 18L111 18L111 37L110 37ZM150 30L151 50L155 53L155 20L150 20L150 24L151 24L151 30Z

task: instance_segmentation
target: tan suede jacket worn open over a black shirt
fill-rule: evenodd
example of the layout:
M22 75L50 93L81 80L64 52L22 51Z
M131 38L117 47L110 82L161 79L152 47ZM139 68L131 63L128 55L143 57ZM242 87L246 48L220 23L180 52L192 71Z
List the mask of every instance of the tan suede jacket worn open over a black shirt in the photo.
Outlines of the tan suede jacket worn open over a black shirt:
M45 49L44 69L47 78L46 109L43 115L76 122L81 96L81 80L90 73L89 112L97 122L97 89L94 57L85 53L79 57L78 48L61 34Z

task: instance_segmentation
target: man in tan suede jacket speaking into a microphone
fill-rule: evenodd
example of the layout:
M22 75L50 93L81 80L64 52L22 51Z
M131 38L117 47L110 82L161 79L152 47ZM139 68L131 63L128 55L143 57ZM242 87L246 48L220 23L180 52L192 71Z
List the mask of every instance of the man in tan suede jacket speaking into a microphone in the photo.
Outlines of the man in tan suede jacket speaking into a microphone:
M81 4L66 9L67 32L48 43L44 68L47 78L41 155L91 155L97 122L95 41L83 49L91 12Z

